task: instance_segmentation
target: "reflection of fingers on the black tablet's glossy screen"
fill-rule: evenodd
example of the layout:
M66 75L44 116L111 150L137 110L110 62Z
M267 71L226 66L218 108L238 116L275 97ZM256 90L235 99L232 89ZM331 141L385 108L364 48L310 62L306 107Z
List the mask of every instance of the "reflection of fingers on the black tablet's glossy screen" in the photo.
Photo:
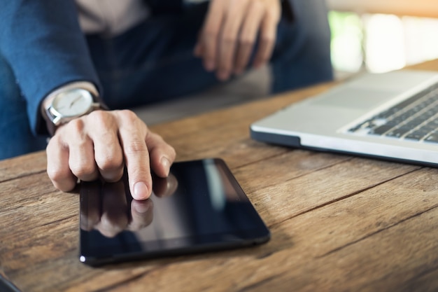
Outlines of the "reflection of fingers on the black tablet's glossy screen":
M80 228L86 231L99 230L105 237L115 237L123 230L138 231L153 221L153 201L134 200L129 193L127 175L120 181L83 182L87 195L87 208L80 210ZM167 197L178 188L173 174L167 178L153 176L153 195Z

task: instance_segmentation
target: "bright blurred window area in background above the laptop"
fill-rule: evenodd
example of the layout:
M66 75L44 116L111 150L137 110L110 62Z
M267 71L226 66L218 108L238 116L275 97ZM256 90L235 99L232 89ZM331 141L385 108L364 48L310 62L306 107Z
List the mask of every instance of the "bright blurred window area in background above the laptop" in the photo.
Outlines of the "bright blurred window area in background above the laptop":
M438 1L327 0L338 76L438 58Z

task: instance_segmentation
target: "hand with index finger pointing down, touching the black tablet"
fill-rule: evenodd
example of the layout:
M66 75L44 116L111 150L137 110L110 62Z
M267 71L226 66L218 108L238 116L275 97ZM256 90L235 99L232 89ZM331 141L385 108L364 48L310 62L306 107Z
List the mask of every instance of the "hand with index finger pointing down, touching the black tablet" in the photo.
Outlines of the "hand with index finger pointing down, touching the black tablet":
M59 190L72 190L78 179L118 181L126 165L136 200L146 200L152 192L151 169L166 177L176 156L129 110L93 111L71 120L57 129L46 152L48 176Z

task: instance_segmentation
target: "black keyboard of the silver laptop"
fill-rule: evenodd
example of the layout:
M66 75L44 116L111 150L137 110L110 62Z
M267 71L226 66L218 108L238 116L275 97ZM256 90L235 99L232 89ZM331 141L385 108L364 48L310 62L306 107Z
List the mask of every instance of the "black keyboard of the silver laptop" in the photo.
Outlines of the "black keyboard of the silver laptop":
M348 132L438 143L438 83Z

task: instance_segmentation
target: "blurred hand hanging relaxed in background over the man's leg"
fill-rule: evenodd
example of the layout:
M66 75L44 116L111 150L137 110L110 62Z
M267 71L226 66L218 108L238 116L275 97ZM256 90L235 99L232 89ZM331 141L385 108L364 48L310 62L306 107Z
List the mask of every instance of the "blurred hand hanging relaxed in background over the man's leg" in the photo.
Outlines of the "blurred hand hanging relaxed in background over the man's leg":
M211 0L195 55L225 81L243 72L259 36L253 66L260 67L274 50L280 18L280 0Z

